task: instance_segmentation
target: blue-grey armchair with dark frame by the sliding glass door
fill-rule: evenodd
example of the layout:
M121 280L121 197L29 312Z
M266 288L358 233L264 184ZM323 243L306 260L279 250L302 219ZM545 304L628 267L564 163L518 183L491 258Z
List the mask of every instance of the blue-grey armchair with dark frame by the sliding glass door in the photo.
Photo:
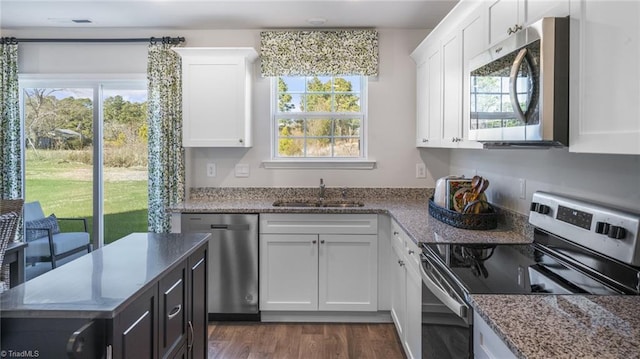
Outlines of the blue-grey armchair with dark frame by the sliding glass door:
M24 205L25 240L29 246L25 249L27 264L51 262L51 268L58 261L73 254L91 252L91 241L87 231L86 218L57 218L51 214L45 217L40 202ZM84 232L60 232L58 221L82 221Z

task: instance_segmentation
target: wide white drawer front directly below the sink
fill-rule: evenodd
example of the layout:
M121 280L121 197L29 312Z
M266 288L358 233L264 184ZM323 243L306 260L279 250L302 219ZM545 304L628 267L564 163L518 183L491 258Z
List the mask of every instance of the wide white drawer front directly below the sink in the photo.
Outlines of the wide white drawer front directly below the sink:
M265 214L260 233L377 234L376 214Z

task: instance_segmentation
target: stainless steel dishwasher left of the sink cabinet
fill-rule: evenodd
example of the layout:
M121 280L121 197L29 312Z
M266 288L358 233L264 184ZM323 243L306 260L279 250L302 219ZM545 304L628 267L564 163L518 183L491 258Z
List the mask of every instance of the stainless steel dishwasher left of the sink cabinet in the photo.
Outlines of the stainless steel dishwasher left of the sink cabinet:
M185 213L182 232L211 233L209 320L260 320L258 215Z

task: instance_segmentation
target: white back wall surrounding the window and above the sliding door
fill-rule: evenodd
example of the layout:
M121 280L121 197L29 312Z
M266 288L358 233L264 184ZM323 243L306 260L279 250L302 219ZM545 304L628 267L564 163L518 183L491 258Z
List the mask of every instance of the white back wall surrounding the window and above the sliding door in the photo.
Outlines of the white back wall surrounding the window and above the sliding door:
M380 74L369 81L368 152L376 161L373 170L265 169L270 159L270 81L256 76L253 92L254 146L250 149L199 148L187 151L187 184L195 187L309 187L320 177L327 186L433 187L434 179L449 171L448 151L421 154L415 136L415 64L409 54L427 30L379 31ZM184 46L252 46L259 50L259 30L139 30L69 29L3 31L3 36L34 37L149 37L184 36ZM144 73L146 44L43 44L19 47L20 72L37 73ZM427 178L415 177L416 163L427 164ZM217 176L207 177L208 162L215 162ZM237 163L248 164L251 175L236 178Z

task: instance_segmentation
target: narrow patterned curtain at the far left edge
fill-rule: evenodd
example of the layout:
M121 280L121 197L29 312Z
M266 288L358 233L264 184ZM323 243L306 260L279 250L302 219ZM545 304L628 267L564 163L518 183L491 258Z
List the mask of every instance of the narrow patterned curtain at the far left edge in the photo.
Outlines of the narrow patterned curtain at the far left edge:
M22 198L18 44L15 39L3 38L0 48L0 196Z

